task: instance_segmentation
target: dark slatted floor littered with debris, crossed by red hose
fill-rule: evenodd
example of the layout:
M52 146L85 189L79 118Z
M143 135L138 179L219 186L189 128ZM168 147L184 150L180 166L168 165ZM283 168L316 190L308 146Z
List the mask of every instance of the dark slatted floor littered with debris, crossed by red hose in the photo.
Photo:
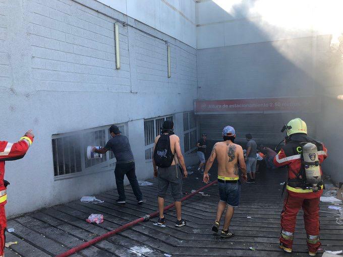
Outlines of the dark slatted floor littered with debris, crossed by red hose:
M215 171L210 171L211 178ZM175 227L175 210L165 213L166 227L153 225L156 218L103 240L73 256L308 256L306 232L302 212L297 219L294 252L284 253L278 249L280 232L279 216L282 208L280 193L285 173L270 170L257 174L256 184L243 184L240 207L236 209L231 230L236 236L221 239L210 230L215 218L218 201L217 185L204 190L210 197L197 195L183 203L183 218L187 226ZM114 177L114 175L113 175ZM114 179L114 178L113 178ZM184 181L184 192L203 186L202 175L194 171ZM8 221L7 241L18 241L6 249L6 256L54 256L69 248L90 240L134 219L157 210L156 179L152 186L142 186L146 202L138 206L130 186L126 187L127 204L115 203L117 190L97 195L102 204L85 204L80 201L43 209L39 212ZM167 197L166 203L172 203ZM321 210L328 204L321 204ZM102 224L88 224L85 219L91 213L101 213ZM251 218L248 218L251 217ZM223 223L223 221L221 222ZM335 223L334 215L320 213L322 248L343 248L343 225ZM251 250L249 247L256 250ZM320 255L320 254L318 254Z

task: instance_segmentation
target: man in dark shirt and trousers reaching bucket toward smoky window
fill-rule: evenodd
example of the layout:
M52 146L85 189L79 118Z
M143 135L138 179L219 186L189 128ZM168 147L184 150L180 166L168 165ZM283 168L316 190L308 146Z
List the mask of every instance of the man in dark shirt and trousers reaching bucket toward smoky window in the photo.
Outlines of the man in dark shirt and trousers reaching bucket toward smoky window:
M136 177L135 172L135 160L131 151L129 139L126 136L121 135L121 131L118 126L111 125L109 128L111 139L107 142L106 146L97 150L93 148L93 152L104 154L108 150L112 150L117 159L115 175L116 184L119 199L118 204L125 204L125 189L124 189L124 175L126 175L130 181L133 193L136 196L139 205L143 204L143 195Z

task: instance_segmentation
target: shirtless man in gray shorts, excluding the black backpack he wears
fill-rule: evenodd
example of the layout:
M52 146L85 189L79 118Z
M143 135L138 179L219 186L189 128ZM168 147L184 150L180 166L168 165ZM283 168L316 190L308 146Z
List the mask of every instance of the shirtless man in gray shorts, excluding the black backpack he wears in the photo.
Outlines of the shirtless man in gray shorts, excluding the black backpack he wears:
M175 223L176 227L182 227L186 225L186 221L182 219L181 217L181 198L182 198L182 178L183 176L187 177L187 170L185 165L185 160L181 152L180 147L180 139L177 135L174 135L174 122L172 120L165 120L163 122L162 126L162 134L164 135L170 135L170 150L173 154L176 155L177 158L174 156L174 160L172 162L172 165L169 167L159 167L157 169L156 163L154 158L152 158L152 164L154 166L154 177L158 178L158 210L159 210L159 219L157 224L163 225L165 223L165 218L163 214L164 209L164 198L166 190L168 189L169 183L172 186L172 195L174 198L175 203L175 209L176 209L176 215L177 215L177 221ZM155 144L154 144L154 150L156 143L160 136L157 136L155 138ZM178 164L180 163L183 174L181 173L181 170L178 167Z

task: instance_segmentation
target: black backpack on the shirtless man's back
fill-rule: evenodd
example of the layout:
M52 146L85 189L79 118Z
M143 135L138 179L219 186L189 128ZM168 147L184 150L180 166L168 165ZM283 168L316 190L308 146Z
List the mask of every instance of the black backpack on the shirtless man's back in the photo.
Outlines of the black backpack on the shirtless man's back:
M157 167L165 168L172 165L174 154L170 149L170 134L161 135L155 145L154 161Z

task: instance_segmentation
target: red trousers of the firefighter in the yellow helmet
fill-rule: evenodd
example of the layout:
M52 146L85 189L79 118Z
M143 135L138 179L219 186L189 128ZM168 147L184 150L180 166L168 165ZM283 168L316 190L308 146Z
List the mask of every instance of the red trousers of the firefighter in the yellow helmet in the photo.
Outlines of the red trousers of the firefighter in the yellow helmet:
M307 233L307 246L310 252L317 252L319 242L319 199L295 198L289 194L283 202L281 213L280 243L292 249L294 231L296 228L297 214L300 208L304 211L304 223Z

